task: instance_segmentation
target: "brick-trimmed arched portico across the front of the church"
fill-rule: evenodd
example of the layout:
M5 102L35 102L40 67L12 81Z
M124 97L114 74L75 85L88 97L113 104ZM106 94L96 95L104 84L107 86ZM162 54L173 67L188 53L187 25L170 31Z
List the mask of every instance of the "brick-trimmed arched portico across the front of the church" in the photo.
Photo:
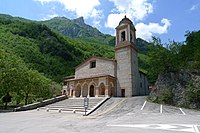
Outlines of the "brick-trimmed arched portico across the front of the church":
M66 84L70 84L65 86L69 97L115 96L115 78L109 75L69 80Z

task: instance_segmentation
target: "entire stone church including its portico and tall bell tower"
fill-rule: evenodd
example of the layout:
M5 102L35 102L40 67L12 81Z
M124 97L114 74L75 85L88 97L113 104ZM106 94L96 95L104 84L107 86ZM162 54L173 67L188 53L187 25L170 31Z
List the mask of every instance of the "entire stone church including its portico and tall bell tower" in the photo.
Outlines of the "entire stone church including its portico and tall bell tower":
M126 16L116 27L115 59L91 57L64 78L71 97L131 97L148 94L148 81L138 69L136 29Z

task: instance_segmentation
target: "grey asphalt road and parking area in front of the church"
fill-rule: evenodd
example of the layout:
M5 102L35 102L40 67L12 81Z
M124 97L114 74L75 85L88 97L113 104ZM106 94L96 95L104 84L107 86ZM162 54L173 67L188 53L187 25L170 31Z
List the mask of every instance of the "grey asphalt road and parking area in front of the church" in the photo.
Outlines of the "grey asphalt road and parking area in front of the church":
M200 111L111 98L90 116L44 110L0 113L0 133L199 133Z

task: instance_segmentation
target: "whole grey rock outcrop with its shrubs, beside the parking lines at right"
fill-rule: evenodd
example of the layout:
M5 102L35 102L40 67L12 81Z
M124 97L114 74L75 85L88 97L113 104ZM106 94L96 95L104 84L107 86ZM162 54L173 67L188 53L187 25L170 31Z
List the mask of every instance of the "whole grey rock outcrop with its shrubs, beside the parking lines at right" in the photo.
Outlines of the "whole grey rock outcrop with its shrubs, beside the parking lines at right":
M189 108L199 108L199 98L200 74L186 71L160 74L150 94L153 101Z

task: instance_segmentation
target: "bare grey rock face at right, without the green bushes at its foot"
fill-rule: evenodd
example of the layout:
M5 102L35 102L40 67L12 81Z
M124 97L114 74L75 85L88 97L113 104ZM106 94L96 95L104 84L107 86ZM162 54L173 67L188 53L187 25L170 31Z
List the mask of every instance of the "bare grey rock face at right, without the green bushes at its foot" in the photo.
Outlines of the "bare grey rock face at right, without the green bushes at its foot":
M158 99L163 99L163 97L166 98L164 95L166 95L166 92L168 92L170 94L167 96L170 100L168 104L175 106L187 105L191 108L197 108L197 105L195 105L197 103L191 103L188 101L186 93L188 91L189 84L199 88L200 75L185 71L165 72L158 76L153 91L151 92L151 96L156 96Z

